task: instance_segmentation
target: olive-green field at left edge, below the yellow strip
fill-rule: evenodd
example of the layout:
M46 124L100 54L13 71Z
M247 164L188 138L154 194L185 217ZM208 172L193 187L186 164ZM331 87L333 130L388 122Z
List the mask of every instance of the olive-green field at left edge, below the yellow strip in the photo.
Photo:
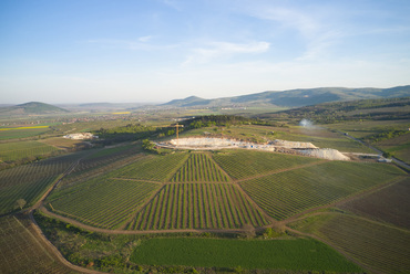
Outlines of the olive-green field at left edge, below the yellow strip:
M0 160L16 161L23 158L51 155L59 150L40 141L14 141L0 144Z

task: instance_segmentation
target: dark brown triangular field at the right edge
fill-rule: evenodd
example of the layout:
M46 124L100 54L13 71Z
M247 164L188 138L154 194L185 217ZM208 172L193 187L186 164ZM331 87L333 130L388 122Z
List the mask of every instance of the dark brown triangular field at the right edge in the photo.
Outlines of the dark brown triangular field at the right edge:
M410 230L410 211L403 210L410 209L409 197L410 179L407 178L360 199L342 203L339 208Z

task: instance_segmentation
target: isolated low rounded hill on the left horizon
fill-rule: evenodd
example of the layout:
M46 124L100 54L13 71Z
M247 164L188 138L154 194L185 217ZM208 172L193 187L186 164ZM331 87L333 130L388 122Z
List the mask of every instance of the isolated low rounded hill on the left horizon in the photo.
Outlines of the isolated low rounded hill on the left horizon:
M23 114L59 114L68 113L69 110L57 107L53 105L40 103L40 102L29 102L16 106L0 107L0 114L4 115L23 115Z

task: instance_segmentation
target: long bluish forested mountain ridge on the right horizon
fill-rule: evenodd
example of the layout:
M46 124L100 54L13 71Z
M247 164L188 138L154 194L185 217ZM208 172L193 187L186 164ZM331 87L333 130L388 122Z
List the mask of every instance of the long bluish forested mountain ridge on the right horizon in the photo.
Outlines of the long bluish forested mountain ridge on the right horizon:
M290 89L284 92L263 92L249 95L204 99L191 96L184 99L173 99L162 106L168 107L215 107L215 106L256 106L276 105L300 107L326 102L377 99L410 96L410 85L390 88L347 88L319 87L306 89Z

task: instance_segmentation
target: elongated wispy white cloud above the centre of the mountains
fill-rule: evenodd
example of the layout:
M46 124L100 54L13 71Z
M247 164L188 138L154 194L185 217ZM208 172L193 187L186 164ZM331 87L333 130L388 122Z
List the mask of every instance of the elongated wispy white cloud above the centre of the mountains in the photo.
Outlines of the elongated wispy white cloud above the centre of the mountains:
M236 54L257 54L268 51L268 42L230 43L230 42L208 42L205 46L195 48L183 65L205 64L219 57L229 57Z

